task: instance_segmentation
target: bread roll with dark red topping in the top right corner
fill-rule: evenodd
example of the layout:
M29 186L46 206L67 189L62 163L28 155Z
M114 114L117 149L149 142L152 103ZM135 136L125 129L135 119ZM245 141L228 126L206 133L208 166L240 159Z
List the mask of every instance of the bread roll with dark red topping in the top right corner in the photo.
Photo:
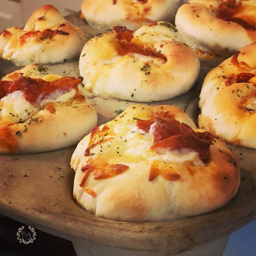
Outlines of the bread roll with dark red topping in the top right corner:
M256 40L256 1L190 0L175 24L199 57L229 57Z

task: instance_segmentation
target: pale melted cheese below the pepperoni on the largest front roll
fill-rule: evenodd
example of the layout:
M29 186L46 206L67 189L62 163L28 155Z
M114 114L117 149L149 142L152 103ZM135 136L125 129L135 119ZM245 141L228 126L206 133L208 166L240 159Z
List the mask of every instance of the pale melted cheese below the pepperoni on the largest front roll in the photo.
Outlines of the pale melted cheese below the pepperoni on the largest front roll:
M105 134L104 138L112 137L113 139L92 148L90 153L93 158L99 156L102 160L111 161L113 164L159 160L166 163L193 161L195 164L204 165L198 154L190 149L170 151L162 148L158 153L151 150L154 140L153 129L145 133L136 126L136 123L116 124L113 130L108 130Z

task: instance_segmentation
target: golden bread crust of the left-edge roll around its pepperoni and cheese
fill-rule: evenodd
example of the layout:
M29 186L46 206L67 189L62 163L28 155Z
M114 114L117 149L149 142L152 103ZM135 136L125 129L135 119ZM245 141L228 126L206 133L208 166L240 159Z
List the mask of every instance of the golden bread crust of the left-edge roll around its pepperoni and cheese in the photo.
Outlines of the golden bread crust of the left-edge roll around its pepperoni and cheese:
M41 79L50 74L42 65L30 64L6 75L3 80L15 80L10 76L16 73ZM19 98L15 100L20 101ZM3 104L1 102L0 104ZM22 104L23 101L18 106L22 107ZM16 123L2 119L1 109L0 154L38 153L65 148L78 143L97 124L97 113L94 107L86 102L86 98L82 101L67 98L66 102L50 104L50 108L43 106L38 112L30 114L27 120ZM19 114L19 110L16 111ZM30 110L25 111L27 113Z

